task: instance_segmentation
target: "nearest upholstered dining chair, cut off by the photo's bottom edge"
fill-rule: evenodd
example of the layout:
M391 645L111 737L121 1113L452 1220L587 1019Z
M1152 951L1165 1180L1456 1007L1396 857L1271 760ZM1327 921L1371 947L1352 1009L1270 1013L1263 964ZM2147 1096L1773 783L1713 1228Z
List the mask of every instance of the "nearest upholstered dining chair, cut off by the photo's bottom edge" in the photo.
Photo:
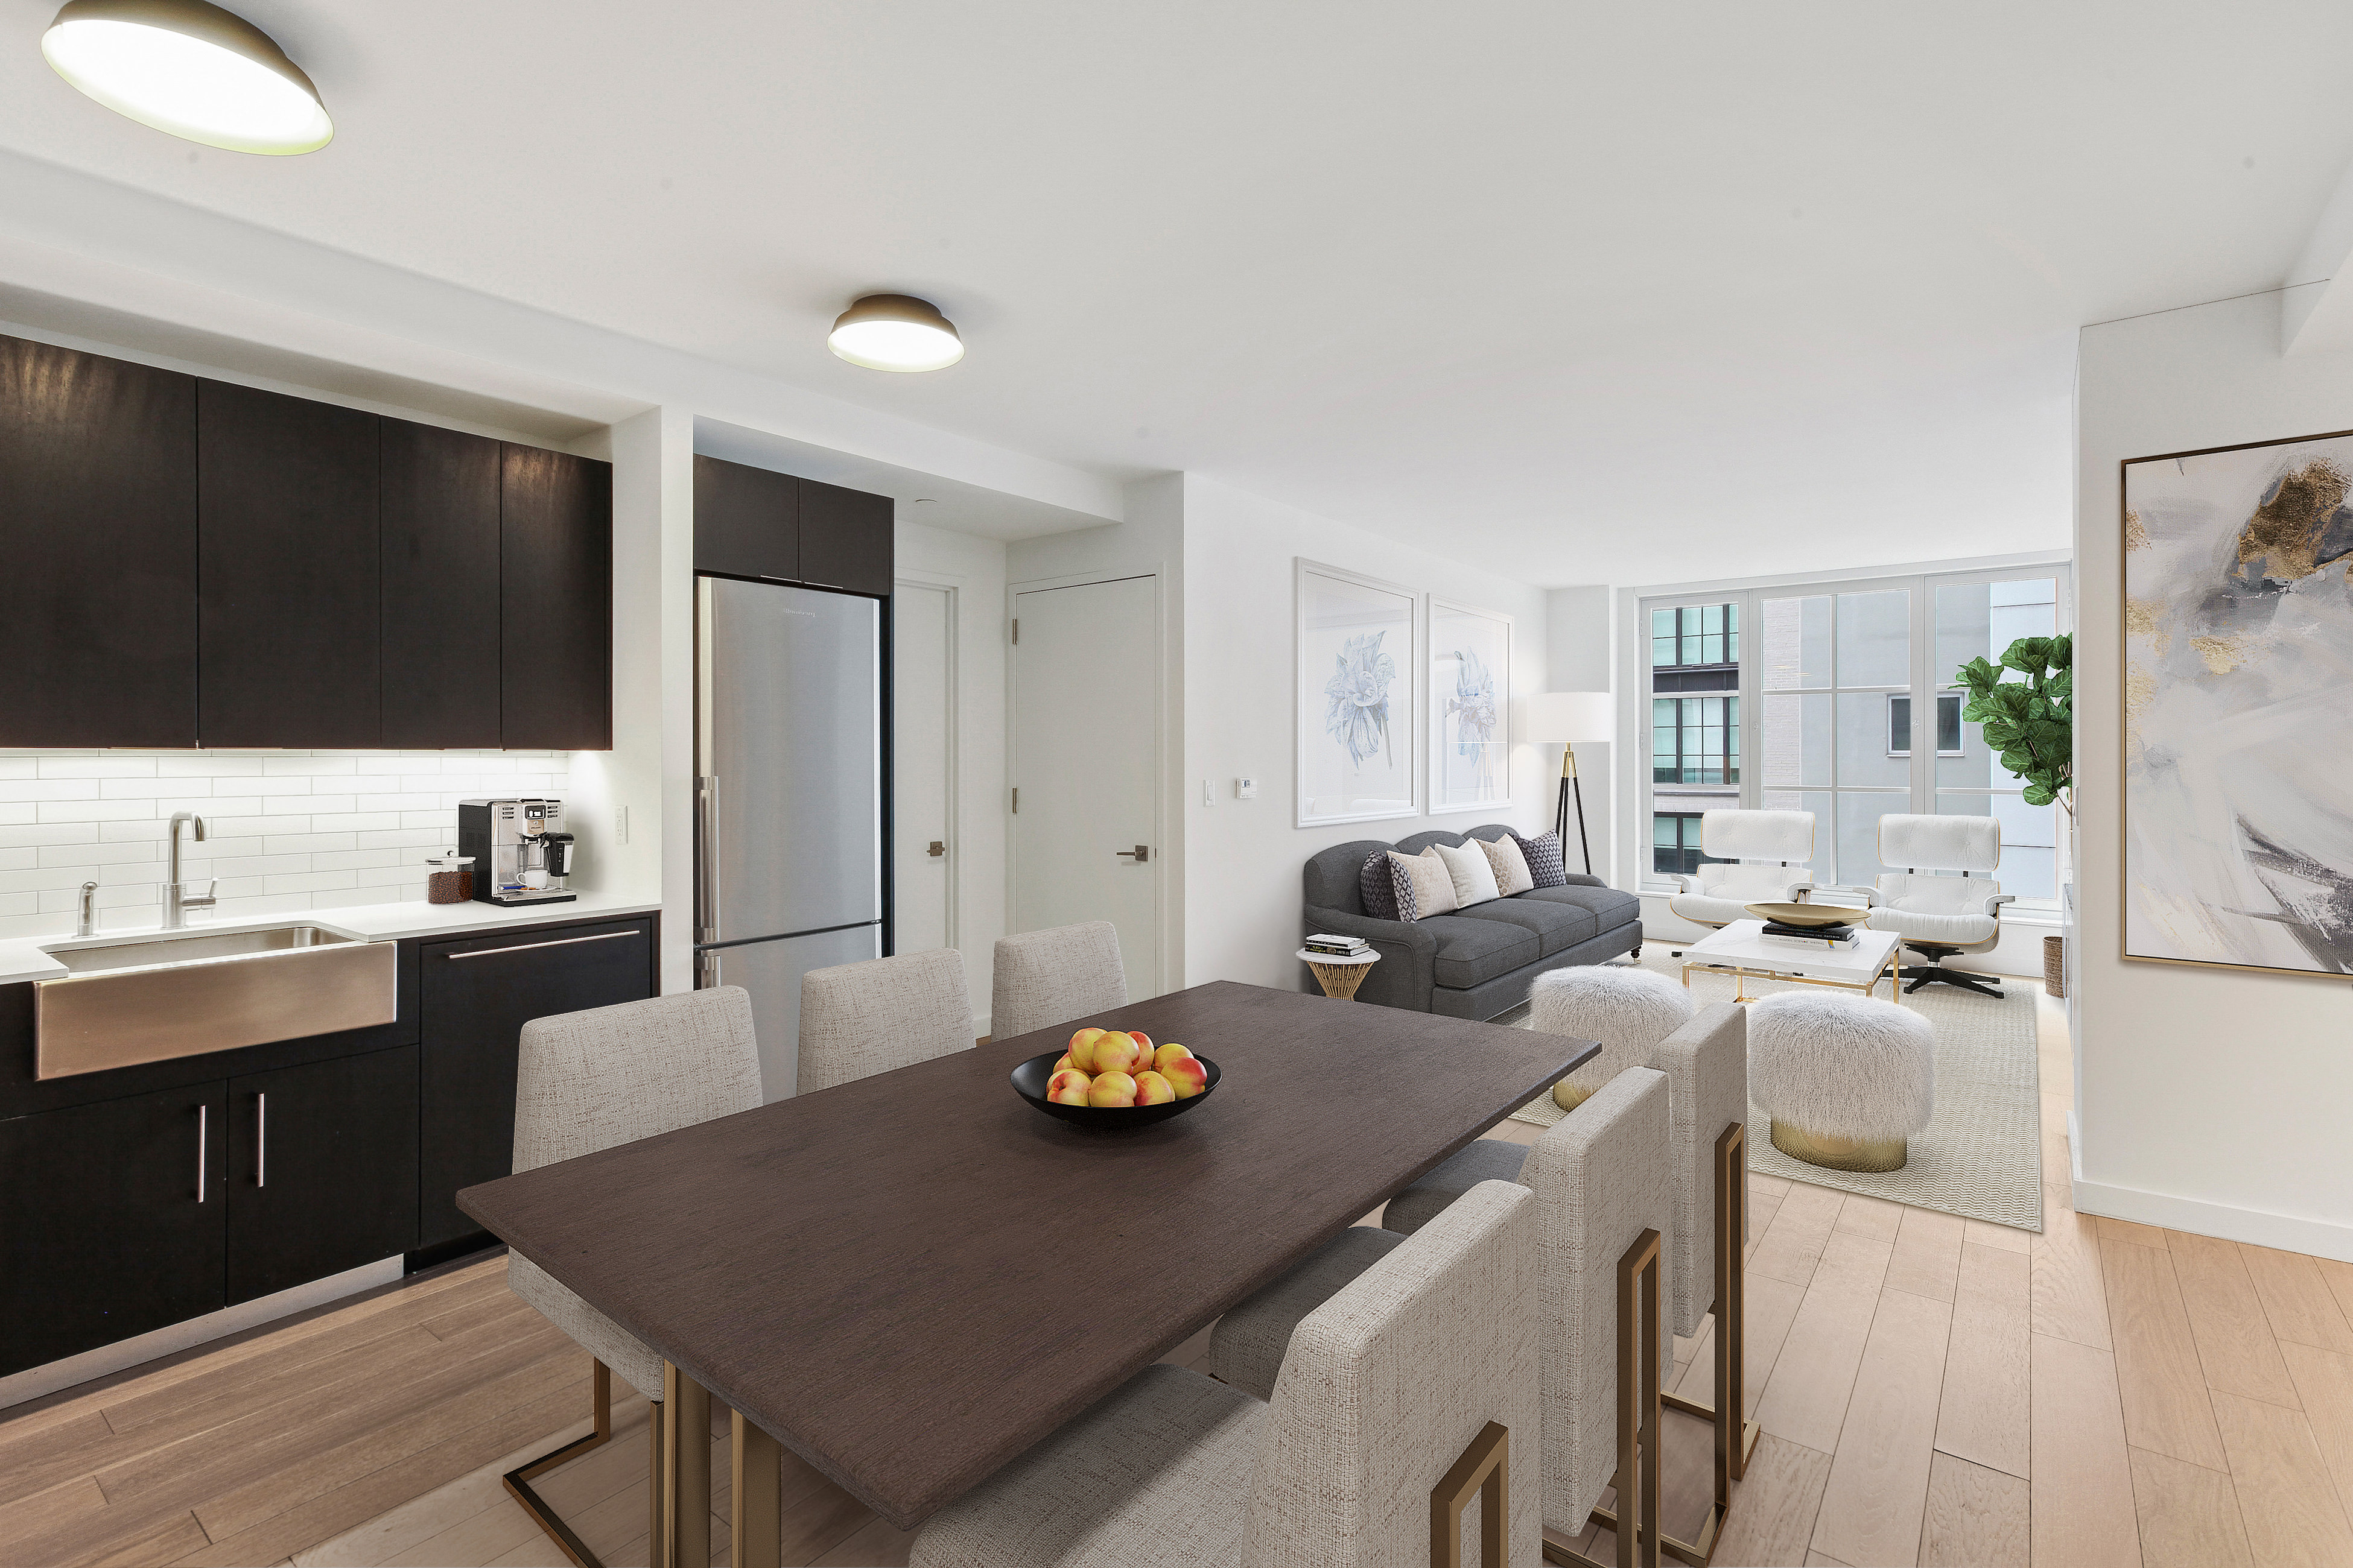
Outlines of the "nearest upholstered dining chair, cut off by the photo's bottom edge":
M911 1568L1405 1568L1447 1533L1473 1537L1464 1561L1534 1563L1539 1204L1511 1182L1466 1192L1299 1321L1264 1403L1144 1368L932 1514ZM1504 1497L1485 1552L1482 1509Z

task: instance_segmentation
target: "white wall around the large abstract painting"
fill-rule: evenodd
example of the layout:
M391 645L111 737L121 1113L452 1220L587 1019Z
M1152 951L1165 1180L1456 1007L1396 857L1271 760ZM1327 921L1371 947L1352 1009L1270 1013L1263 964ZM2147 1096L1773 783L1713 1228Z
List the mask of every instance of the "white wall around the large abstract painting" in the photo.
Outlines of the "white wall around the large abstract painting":
M2085 327L2078 362L2075 1206L2353 1260L2346 983L2120 954L2118 463L2353 428L2353 360L2280 357L2273 294Z

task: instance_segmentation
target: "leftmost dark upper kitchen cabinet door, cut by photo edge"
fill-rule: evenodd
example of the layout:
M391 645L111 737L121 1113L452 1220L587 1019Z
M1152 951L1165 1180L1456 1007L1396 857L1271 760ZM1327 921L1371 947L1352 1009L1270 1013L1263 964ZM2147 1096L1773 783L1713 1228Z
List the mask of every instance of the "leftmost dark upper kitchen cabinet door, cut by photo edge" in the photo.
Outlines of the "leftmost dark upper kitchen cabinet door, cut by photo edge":
M0 339L0 745L195 745L195 378Z

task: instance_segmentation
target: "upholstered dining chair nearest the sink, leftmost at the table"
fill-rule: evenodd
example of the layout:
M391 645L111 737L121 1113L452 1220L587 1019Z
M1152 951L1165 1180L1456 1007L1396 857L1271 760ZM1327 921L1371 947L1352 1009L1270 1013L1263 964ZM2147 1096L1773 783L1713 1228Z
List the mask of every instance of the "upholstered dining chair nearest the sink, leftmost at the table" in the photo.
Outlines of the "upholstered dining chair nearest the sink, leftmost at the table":
M741 985L534 1018L522 1025L515 1063L515 1171L758 1105L760 1048L753 1044L751 994ZM520 1253L506 1255L506 1284L595 1356L595 1432L506 1472L506 1490L565 1556L595 1568L595 1554L532 1490L532 1481L612 1436L612 1373L621 1373L621 1382L652 1403L647 1537L661 1540L661 1356Z

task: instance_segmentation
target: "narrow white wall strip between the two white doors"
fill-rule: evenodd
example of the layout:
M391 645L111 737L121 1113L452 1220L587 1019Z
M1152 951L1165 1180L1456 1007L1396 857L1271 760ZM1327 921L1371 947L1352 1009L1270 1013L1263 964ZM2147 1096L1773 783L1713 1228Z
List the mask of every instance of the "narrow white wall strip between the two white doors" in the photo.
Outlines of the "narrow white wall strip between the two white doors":
M904 501L899 512L911 510ZM1005 936L1005 545L899 520L901 581L955 590L955 947L988 1032L991 957Z

